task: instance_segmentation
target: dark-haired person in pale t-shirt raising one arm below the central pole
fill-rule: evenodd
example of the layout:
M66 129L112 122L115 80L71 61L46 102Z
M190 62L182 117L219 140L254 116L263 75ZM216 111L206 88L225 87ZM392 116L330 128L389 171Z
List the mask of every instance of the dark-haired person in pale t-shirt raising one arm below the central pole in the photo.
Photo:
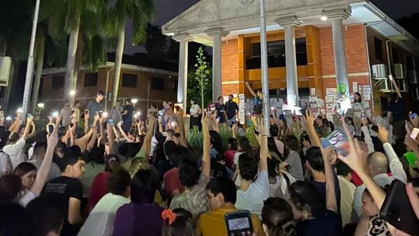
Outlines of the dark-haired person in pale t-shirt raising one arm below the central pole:
M260 161L258 165L256 158L247 156L247 154L240 155L240 188L237 190L235 207L237 209L248 209L260 218L263 200L270 197L270 186L267 176L267 130L263 126L262 119L255 119L253 122L259 131Z

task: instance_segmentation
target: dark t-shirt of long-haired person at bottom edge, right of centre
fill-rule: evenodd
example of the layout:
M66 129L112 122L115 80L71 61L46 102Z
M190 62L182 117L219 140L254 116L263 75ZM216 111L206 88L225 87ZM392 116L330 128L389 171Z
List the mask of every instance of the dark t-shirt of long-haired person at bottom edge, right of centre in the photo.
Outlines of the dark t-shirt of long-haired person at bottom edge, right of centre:
M316 219L301 221L296 228L297 236L337 236L341 233L339 215L328 209Z

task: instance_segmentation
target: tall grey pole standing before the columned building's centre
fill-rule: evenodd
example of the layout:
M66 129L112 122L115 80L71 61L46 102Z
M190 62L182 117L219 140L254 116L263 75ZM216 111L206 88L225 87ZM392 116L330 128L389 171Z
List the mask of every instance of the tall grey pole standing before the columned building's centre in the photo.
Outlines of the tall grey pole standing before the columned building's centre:
M243 6L250 6L255 0L239 0ZM260 68L262 71L262 94L263 94L263 121L265 127L270 128L270 101L269 84L267 80L267 40L266 40L266 17L265 0L260 0ZM269 134L269 132L268 132Z

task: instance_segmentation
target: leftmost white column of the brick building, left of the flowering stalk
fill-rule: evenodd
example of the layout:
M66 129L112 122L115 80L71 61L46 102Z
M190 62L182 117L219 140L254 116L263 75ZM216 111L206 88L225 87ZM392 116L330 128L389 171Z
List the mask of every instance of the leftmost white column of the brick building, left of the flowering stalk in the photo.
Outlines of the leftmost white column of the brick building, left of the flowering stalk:
M177 78L177 103L182 103L186 109L186 94L188 86L188 42L191 40L188 34L173 36L179 42L179 71Z

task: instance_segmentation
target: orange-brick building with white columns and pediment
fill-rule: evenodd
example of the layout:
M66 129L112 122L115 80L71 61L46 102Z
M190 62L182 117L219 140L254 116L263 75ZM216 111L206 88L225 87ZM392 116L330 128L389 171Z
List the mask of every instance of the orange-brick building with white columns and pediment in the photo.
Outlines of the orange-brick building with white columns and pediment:
M418 99L419 42L369 1L266 0L265 9L270 98L289 103L316 96L327 102L330 91L345 82L351 94L359 91L369 109L380 114L393 91L392 73L407 110ZM163 33L181 44L179 93L186 91L182 49L191 40L213 47L213 87L219 88L213 98L249 98L246 82L260 89L258 20L258 1L202 0L164 24Z

